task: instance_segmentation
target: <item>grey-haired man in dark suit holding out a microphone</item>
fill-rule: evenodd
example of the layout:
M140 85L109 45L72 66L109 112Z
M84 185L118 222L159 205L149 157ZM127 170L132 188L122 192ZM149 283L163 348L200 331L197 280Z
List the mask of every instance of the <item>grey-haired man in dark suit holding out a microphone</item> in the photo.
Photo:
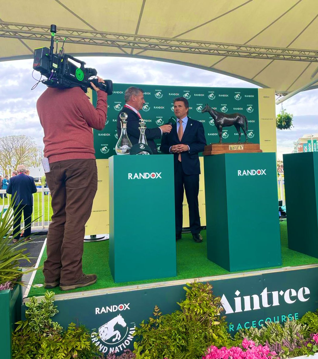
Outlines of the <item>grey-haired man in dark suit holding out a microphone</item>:
M127 134L132 145L135 145L139 142L140 130L139 130L139 120L141 115L139 110L142 109L143 104L145 103L143 90L137 87L129 87L125 91L125 106L121 112L126 112L128 115L127 118ZM120 113L121 113L120 112ZM120 127L120 113L117 116L117 135L120 137L121 127ZM163 133L169 133L171 131L171 125L162 125L154 129L146 129L145 135L147 139L148 146L151 148L152 153L158 153L157 147L155 144L155 139L161 138Z

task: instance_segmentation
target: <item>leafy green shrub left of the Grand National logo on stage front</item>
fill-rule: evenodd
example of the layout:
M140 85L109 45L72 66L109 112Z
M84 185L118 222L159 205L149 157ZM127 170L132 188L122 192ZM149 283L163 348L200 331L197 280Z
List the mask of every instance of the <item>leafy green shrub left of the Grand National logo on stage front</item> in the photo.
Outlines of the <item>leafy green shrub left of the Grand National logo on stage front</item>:
M17 322L12 336L13 359L92 359L96 348L84 326L70 323L65 331L51 320L58 311L53 303L54 292L46 292L37 303L34 297L26 303L26 320ZM97 357L96 357L97 358Z

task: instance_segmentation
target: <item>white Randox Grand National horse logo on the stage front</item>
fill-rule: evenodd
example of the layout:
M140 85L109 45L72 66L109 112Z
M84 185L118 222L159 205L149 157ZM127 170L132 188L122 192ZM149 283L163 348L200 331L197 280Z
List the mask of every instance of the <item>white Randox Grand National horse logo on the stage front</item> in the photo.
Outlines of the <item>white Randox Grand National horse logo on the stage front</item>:
M130 310L129 305L124 303L95 308L95 314L103 314L103 318L106 315L107 320L98 328L98 333L95 331L91 334L93 344L101 353L121 353L133 341L135 323L128 323L124 312Z

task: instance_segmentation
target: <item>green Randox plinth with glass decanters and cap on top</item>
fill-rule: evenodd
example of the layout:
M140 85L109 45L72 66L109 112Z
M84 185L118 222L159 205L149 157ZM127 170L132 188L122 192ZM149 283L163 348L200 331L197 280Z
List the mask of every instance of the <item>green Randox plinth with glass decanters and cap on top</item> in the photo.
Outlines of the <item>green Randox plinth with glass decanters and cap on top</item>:
M115 282L176 276L173 156L109 158L109 232Z

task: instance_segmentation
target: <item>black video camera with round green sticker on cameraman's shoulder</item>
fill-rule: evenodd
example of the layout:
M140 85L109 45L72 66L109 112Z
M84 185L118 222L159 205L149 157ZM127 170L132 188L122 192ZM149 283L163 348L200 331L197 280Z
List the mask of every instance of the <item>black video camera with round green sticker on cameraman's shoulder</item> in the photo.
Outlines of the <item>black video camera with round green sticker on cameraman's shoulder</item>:
M39 71L47 79L41 82L48 87L72 88L80 87L85 93L91 87L91 82L107 94L112 94L112 81L98 82L97 71L85 67L86 62L64 53L63 47L59 53L53 53L54 34L56 25L51 25L51 47L40 47L34 50L33 69Z

